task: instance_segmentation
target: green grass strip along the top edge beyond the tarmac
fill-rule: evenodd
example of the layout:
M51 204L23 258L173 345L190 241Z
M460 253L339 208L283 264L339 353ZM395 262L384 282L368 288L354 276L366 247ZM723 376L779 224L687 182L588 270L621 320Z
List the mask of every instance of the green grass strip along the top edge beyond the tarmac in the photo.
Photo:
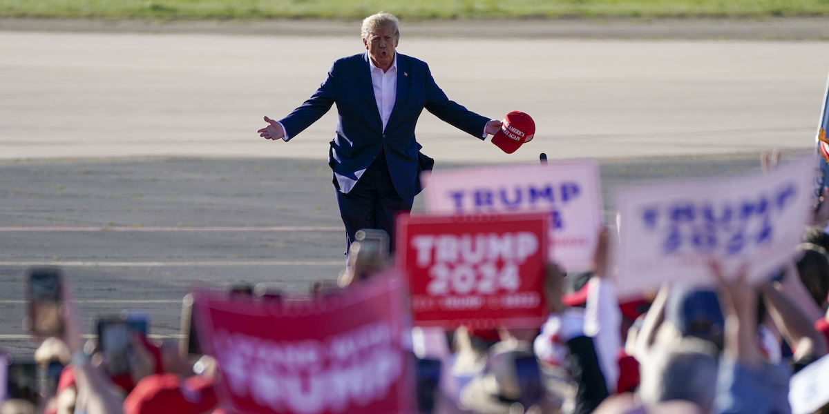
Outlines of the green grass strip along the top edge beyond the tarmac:
M0 0L0 17L405 19L829 16L829 0Z

